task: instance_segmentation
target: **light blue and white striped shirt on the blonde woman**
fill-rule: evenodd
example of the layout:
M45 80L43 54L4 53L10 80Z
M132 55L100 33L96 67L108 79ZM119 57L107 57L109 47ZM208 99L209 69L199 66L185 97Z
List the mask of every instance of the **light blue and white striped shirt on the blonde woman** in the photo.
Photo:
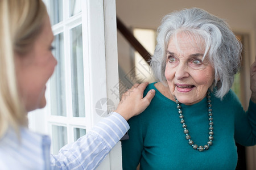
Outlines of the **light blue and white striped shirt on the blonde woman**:
M9 130L0 140L0 169L96 169L129 129L126 120L113 112L86 135L50 154L51 141L28 129L17 138Z

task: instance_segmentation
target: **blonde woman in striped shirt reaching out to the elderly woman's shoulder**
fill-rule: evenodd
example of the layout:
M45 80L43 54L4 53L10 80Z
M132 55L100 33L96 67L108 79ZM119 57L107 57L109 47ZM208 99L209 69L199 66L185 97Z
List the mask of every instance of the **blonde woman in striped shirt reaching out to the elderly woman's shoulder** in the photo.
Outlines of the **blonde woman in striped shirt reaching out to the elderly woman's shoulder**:
M154 90L142 96L148 83L135 84L103 124L50 155L49 137L27 128L27 112L46 105L46 83L57 64L44 3L1 0L0 37L0 169L95 169L129 129L127 120L154 97Z

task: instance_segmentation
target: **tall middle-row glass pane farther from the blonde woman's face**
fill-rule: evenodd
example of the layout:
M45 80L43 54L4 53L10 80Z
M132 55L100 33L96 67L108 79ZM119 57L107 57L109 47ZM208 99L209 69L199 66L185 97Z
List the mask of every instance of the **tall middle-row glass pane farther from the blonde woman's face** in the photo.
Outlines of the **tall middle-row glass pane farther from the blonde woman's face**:
M73 116L85 117L82 25L71 29L71 71Z

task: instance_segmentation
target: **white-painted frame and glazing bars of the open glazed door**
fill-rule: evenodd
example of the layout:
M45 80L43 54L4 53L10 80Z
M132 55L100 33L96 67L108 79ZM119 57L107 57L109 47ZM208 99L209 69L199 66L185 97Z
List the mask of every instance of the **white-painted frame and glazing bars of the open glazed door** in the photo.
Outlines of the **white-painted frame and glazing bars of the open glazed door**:
M49 1L44 0L48 6ZM68 0L63 0L67 2ZM67 117L51 115L51 98L49 82L47 83L47 105L44 109L38 109L34 113L29 114L30 129L51 136L51 125L64 125L68 130L68 143L73 142L72 127L86 128L90 130L93 125L102 119L95 112L95 106L98 100L102 98L111 99L115 106L119 103L119 97L116 93L113 94L113 88L118 91L118 61L117 61L117 27L115 14L115 0L82 0L82 12L72 17L71 20L53 25L52 30L54 35L59 32L69 32L70 27L82 24L82 39L83 39L83 56L84 56L84 91L85 91L85 118L68 118L68 114L72 114L71 91L66 91L67 97ZM64 15L68 15L68 6L64 6ZM62 24L65 24L62 27ZM67 30L66 30L67 29ZM65 39L65 35L64 35ZM65 48L70 44L69 40L64 42L64 55L70 55L69 48ZM67 66L67 65L66 65ZM67 73L71 73L67 67ZM70 75L65 74L69 78L65 79L66 88L70 88ZM105 105L105 110L108 108ZM97 169L122 169L121 142L113 148L109 156Z

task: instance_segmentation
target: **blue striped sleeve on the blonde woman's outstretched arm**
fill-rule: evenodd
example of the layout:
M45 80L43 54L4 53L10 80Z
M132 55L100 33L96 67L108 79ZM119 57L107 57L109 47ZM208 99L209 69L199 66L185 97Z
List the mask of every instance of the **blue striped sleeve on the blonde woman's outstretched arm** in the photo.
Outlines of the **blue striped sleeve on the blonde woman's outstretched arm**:
M84 137L51 156L52 169L95 169L129 128L126 120L113 112Z

